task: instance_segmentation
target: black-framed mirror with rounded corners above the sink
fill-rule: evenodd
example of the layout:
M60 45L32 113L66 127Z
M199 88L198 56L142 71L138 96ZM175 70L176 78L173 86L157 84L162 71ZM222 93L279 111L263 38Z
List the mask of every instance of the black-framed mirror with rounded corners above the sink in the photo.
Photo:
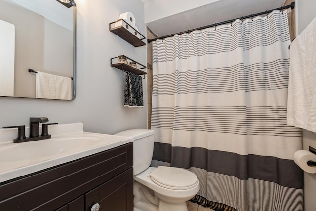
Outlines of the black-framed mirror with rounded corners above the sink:
M0 96L75 99L74 0L0 0Z

